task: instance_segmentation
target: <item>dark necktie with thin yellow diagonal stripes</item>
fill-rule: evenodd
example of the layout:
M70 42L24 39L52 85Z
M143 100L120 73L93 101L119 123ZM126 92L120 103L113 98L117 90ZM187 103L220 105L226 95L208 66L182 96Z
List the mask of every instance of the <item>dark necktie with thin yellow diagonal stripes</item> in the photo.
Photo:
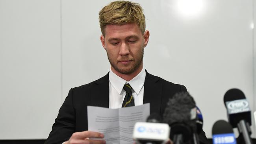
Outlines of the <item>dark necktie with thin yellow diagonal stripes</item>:
M124 90L126 92L126 95L124 97L124 101L122 102L122 107L134 106L134 97L132 96L132 87L129 85L129 83L126 83L124 85Z

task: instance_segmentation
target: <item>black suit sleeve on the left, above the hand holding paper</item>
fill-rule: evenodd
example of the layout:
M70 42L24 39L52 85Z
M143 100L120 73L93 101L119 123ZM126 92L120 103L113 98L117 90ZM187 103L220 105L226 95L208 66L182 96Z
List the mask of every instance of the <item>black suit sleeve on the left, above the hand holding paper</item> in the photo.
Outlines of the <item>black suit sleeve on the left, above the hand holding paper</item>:
M67 98L59 109L59 114L55 119L52 131L46 139L45 144L62 144L69 140L72 133L75 132L75 116L73 89L70 89Z

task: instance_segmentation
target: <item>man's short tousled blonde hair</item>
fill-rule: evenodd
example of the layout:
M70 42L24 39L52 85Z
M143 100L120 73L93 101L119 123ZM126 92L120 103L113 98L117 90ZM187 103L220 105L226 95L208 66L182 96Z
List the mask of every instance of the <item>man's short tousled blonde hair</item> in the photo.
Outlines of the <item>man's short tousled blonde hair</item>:
M142 7L135 2L115 1L103 7L99 12L100 30L105 36L105 28L110 24L136 23L142 33L145 32L146 22Z

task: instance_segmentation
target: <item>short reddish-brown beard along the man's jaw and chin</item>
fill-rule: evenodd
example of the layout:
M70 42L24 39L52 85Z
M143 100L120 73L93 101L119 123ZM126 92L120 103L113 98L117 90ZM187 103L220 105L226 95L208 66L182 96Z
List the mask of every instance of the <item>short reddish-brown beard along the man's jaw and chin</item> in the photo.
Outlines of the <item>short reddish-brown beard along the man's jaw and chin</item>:
M133 72L135 72L135 70L137 70L139 68L139 66L141 65L142 61L143 61L143 55L144 55L144 48L142 48L138 59L133 59L134 63L131 64L131 66L124 66L123 68L120 68L119 66L117 66L117 64L115 63L116 61L110 58L110 55L108 54L107 51L107 55L108 55L108 61L110 63L110 65L119 73L121 74L132 74ZM124 56L126 57L126 56Z

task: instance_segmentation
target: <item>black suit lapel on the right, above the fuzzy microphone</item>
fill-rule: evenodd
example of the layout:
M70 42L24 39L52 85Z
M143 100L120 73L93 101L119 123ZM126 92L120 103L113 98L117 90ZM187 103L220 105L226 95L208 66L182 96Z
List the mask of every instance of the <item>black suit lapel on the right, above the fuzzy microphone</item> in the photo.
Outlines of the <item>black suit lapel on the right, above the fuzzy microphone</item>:
M159 78L149 74L146 70L143 103L150 103L150 114L160 113L162 97L162 83Z

